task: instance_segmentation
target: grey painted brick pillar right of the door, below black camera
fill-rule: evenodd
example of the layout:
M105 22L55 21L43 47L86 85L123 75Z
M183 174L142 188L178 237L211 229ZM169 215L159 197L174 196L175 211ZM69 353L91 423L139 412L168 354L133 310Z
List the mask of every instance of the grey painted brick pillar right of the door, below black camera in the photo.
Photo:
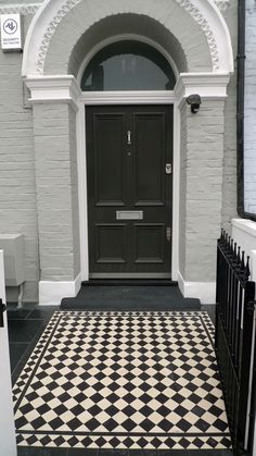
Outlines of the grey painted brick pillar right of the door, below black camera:
M185 106L183 119L184 109L180 245L185 261L181 271L185 281L214 282L216 239L221 225L225 102L203 100L196 115Z

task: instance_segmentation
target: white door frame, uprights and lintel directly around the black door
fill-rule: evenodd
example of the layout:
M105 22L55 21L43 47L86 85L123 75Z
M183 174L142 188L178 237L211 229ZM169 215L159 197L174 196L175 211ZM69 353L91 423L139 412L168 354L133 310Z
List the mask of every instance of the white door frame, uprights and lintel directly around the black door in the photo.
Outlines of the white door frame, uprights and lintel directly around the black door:
M179 186L180 186L180 110L179 99L174 90L151 91L90 91L81 93L77 112L77 164L80 229L81 280L89 280L89 241L88 241L88 197L87 197L87 148L86 148L86 107L118 104L172 104L172 245L171 280L178 280L179 270Z

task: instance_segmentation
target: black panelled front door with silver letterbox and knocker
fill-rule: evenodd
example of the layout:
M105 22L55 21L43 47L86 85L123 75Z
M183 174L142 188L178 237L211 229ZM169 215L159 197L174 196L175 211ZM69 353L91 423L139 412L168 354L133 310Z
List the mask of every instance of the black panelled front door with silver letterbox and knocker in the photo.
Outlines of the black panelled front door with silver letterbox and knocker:
M89 107L90 278L170 278L172 107Z

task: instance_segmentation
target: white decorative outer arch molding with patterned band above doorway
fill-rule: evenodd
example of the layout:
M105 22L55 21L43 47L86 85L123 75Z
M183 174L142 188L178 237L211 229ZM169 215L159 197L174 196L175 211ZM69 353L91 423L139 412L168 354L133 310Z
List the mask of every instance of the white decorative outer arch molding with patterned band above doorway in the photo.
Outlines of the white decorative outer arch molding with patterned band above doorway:
M64 17L82 0L44 0L28 29L23 76L43 75L44 61L51 39ZM200 26L204 33L214 73L233 72L233 54L228 26L217 4L229 0L172 0Z

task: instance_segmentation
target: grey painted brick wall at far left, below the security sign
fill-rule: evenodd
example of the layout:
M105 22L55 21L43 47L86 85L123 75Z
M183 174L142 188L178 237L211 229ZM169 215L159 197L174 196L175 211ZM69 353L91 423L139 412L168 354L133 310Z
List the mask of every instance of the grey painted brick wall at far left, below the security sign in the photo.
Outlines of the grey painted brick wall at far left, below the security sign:
M26 30L31 16L24 20ZM35 301L38 239L34 135L31 110L23 108L21 67L21 53L3 53L0 49L0 233L25 235L24 299ZM8 299L15 300L16 296L17 289L8 289Z

